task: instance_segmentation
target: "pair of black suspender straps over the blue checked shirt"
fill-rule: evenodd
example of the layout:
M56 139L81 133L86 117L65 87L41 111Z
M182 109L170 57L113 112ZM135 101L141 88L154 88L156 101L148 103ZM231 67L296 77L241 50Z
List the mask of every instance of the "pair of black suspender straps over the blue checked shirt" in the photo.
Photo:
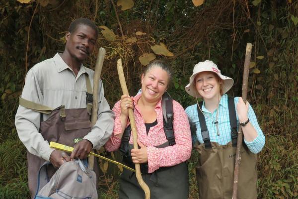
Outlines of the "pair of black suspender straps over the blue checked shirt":
M200 108L202 109L203 101L199 103ZM210 142L210 136L209 131L206 125L206 120L204 114L199 109L199 106L197 106L198 116L199 116L199 122L201 126L201 135L205 144L205 148L211 148L211 142ZM231 140L232 140L232 146L237 146L237 118L236 118L236 110L235 110L235 104L234 104L234 98L228 97L228 114L229 114L229 121L231 126Z

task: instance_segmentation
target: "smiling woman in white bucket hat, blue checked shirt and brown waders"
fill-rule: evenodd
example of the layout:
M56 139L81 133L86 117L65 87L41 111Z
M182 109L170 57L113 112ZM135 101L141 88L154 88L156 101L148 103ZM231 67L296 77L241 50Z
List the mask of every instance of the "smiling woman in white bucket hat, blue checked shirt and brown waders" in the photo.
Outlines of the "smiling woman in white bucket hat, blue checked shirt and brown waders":
M185 87L189 95L203 99L186 108L191 126L196 127L193 140L199 142L195 148L199 153L196 174L200 199L231 199L238 124L244 135L238 199L257 198L256 154L262 150L265 137L250 104L225 94L233 82L206 60L195 65Z

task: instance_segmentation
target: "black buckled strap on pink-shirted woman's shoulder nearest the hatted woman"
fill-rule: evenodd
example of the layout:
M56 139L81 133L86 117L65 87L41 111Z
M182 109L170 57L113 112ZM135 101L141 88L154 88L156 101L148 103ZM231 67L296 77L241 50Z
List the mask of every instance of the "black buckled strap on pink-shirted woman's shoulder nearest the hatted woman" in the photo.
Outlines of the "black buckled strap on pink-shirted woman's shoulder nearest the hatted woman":
M161 108L163 114L163 130L170 146L176 144L173 129L173 100L167 92L162 96Z

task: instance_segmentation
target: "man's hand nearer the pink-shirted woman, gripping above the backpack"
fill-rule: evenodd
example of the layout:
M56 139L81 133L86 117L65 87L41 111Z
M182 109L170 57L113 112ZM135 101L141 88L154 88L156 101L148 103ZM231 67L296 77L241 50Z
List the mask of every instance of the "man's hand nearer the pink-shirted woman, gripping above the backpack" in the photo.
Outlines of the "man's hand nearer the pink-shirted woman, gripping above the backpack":
M82 139L81 141L79 141L74 145L74 150L71 154L71 158L85 159L88 157L92 148L93 148L93 145L89 140Z

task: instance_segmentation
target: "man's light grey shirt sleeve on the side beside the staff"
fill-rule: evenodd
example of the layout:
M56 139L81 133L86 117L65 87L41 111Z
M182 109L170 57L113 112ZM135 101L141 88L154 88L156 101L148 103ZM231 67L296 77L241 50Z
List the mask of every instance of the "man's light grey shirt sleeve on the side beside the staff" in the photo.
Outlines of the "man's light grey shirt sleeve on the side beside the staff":
M93 144L93 149L100 149L100 147L102 147L110 138L113 132L115 118L114 112L110 109L110 106L104 97L101 81L98 99L97 121L91 131L83 138L89 140Z

